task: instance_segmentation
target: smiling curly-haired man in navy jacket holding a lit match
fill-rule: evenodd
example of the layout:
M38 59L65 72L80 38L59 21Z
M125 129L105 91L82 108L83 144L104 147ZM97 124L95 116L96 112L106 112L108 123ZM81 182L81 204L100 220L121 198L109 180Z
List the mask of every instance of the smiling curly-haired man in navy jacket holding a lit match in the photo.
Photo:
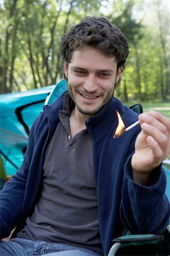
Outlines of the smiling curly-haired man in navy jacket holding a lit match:
M107 255L113 238L164 232L169 203L162 160L169 120L138 115L113 97L129 46L106 18L85 18L63 37L63 93L32 125L20 170L1 192L5 255ZM113 139L118 121L140 125ZM142 130L141 130L142 129Z

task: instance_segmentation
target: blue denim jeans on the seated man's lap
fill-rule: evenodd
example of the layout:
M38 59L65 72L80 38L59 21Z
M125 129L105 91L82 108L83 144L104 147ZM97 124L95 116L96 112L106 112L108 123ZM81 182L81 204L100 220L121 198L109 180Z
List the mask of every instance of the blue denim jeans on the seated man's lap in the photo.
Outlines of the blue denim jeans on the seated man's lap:
M100 253L78 246L31 241L23 238L12 238L0 242L2 256L99 256Z

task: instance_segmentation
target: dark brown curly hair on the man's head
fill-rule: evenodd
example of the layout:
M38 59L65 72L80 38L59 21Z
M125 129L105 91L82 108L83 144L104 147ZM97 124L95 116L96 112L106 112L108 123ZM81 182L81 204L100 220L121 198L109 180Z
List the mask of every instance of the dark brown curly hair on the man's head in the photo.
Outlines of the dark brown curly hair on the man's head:
M70 63L74 51L79 51L83 46L92 46L103 51L108 57L115 57L117 70L120 67L124 69L129 54L128 40L119 28L105 17L84 18L63 36L61 46L62 58L66 63Z

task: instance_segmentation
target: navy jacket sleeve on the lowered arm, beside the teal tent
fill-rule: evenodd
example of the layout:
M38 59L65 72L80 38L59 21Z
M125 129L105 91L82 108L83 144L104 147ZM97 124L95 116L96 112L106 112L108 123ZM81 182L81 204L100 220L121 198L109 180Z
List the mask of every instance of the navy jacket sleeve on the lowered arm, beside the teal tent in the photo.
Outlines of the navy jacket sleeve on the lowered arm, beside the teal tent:
M1 239L8 237L11 230L20 223L29 172L29 162L31 161L35 143L35 127L36 121L33 123L30 131L28 146L24 154L22 166L16 174L13 175L7 183L5 183L2 191L0 192Z

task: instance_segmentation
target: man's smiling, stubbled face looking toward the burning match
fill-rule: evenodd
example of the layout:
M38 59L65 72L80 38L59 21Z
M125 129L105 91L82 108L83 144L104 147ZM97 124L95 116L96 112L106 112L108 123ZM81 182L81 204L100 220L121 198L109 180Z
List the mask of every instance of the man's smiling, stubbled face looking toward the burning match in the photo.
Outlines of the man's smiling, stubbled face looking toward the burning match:
M114 57L90 46L74 51L69 65L64 63L64 72L76 112L88 116L97 114L111 100L121 76Z

